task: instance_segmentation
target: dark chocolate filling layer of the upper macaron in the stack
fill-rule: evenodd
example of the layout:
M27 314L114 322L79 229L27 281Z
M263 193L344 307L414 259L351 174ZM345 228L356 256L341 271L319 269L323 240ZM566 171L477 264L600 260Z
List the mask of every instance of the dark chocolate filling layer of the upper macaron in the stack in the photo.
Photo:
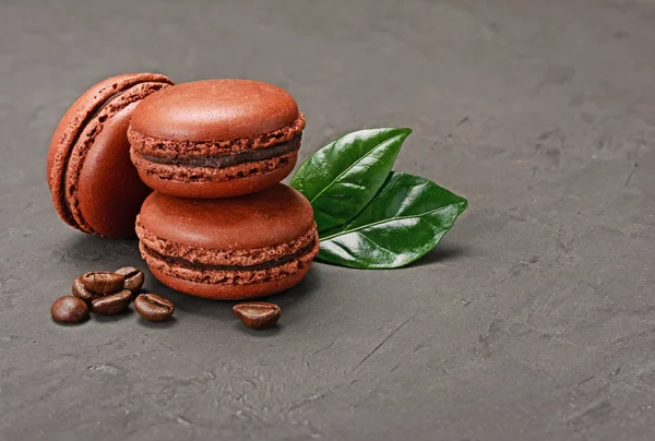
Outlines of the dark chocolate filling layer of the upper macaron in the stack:
M224 168L231 167L243 163L252 163L255 160L269 159L272 157L282 156L286 153L294 152L300 148L300 139L302 134L298 134L291 141L273 145L266 148L248 150L226 155L210 155L210 156L153 156L141 155L146 160L155 164L164 165L181 165L189 167L210 167Z

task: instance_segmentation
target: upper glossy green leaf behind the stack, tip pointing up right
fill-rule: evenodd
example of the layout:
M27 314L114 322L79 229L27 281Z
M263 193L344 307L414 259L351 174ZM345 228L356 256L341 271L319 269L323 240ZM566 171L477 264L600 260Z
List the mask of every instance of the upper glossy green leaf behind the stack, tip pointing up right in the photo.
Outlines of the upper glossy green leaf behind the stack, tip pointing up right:
M319 231L345 224L386 180L410 129L367 129L345 134L314 153L290 186L314 210Z

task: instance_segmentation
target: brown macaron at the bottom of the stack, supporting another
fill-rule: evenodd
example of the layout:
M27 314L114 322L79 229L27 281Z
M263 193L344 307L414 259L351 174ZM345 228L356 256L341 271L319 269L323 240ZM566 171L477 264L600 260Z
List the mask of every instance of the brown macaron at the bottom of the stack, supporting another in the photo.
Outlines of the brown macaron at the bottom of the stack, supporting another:
M153 192L136 218L141 255L181 293L247 299L298 284L319 251L311 205L282 183L238 198Z

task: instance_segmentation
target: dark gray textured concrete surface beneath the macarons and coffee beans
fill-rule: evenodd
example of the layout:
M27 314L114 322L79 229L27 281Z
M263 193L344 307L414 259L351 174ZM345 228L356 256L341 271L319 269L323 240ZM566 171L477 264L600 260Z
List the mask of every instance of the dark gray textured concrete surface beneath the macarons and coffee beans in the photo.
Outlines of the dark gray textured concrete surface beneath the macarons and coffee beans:
M51 301L134 241L71 230L45 154L110 74L266 80L303 157L408 126L397 169L467 196L398 271L317 264L270 332L188 298L79 327ZM1 440L652 440L655 2L0 2Z

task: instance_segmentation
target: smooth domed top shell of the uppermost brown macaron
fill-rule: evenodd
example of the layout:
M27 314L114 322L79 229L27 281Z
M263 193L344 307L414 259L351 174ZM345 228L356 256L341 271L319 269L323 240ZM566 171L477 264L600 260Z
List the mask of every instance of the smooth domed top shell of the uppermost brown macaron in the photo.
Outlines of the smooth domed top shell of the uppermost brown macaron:
M174 141L227 141L293 124L298 105L286 91L253 80L179 84L145 98L131 129Z

